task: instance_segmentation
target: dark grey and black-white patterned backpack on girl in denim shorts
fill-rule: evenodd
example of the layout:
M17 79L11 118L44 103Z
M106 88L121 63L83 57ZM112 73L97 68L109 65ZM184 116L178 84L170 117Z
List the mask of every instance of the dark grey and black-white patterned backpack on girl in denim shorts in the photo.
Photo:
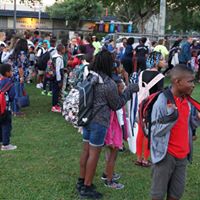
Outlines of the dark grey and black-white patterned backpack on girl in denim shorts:
M93 71L90 71L85 80L72 88L63 102L62 115L67 122L75 127L86 126L93 115L94 86L103 83L102 78Z

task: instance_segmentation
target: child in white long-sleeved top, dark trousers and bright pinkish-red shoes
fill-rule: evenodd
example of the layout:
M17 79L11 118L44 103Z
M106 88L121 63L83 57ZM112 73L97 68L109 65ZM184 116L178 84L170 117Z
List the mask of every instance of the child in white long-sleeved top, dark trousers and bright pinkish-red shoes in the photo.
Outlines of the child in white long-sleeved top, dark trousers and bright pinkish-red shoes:
M52 85L52 112L61 112L61 107L58 105L59 95L62 88L63 82L63 69L64 62L62 55L65 52L65 47L62 44L57 46L57 53L54 54L53 59L55 58L55 78Z

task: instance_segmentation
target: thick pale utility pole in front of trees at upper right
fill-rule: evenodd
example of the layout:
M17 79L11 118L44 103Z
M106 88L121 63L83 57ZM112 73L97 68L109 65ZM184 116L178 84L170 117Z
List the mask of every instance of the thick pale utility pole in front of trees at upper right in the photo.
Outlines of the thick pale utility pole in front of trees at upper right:
M166 20L166 0L160 0L160 17L159 17L159 30L161 36L165 35L165 20Z

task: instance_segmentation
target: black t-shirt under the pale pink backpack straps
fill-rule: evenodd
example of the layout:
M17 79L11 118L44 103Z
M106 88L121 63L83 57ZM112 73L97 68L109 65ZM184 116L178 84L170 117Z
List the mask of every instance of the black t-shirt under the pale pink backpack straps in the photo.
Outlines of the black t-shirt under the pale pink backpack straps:
M158 71L150 71L145 70L142 74L142 81L145 83L149 83L154 77L156 77L160 72ZM158 92L164 88L164 78L158 81L150 90L149 93L153 94Z

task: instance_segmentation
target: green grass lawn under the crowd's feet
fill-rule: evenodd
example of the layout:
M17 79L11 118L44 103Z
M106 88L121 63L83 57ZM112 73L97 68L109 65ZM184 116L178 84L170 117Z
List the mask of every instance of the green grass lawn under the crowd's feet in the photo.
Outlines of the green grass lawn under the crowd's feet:
M0 200L75 200L82 139L60 114L51 113L51 98L40 95L35 86L27 87L31 106L26 117L13 119L11 142L18 149L0 152ZM200 85L194 96L200 100ZM199 131L198 131L199 132ZM188 165L183 200L200 200L200 139L194 144L194 161ZM135 155L119 153L116 172L125 188L114 191L100 179L104 170L104 152L94 183L105 200L147 200L151 170L134 165Z

